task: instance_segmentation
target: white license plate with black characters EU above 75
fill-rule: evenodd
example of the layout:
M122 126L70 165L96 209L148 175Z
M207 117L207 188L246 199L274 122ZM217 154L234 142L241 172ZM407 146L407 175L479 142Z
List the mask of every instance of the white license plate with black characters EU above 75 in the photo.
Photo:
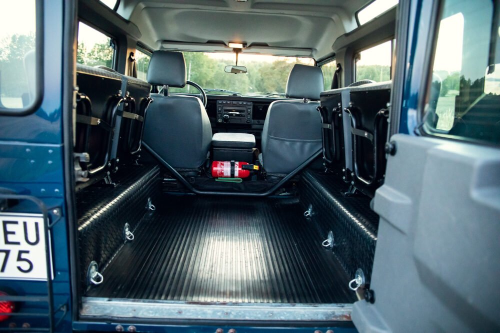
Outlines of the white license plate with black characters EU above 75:
M0 279L47 280L43 216L0 213L0 221Z

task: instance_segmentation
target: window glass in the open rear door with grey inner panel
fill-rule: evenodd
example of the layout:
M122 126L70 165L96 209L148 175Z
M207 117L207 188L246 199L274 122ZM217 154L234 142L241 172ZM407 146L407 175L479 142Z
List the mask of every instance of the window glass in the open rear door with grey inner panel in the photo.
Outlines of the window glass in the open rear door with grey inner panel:
M424 107L428 134L500 144L500 27L493 10L489 0L443 1Z

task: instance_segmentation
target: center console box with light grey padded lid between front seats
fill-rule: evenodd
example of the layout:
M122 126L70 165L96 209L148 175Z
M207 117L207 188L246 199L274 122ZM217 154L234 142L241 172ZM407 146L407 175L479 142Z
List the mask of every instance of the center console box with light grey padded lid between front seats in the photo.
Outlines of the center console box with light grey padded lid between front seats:
M246 133L215 133L212 137L214 161L241 161L253 163L255 136Z

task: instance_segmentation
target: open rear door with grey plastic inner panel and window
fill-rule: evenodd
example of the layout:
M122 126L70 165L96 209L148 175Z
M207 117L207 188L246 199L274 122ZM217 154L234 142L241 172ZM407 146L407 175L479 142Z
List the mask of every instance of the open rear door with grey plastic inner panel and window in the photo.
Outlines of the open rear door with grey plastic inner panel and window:
M498 332L499 4L405 2L373 297L352 320L361 332Z

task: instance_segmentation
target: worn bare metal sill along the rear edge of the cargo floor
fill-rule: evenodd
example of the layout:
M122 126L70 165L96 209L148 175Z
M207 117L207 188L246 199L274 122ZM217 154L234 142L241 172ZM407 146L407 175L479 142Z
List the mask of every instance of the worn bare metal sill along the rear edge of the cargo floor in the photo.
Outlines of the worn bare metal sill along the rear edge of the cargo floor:
M352 304L192 303L84 297L80 316L165 321L350 322L351 311Z

